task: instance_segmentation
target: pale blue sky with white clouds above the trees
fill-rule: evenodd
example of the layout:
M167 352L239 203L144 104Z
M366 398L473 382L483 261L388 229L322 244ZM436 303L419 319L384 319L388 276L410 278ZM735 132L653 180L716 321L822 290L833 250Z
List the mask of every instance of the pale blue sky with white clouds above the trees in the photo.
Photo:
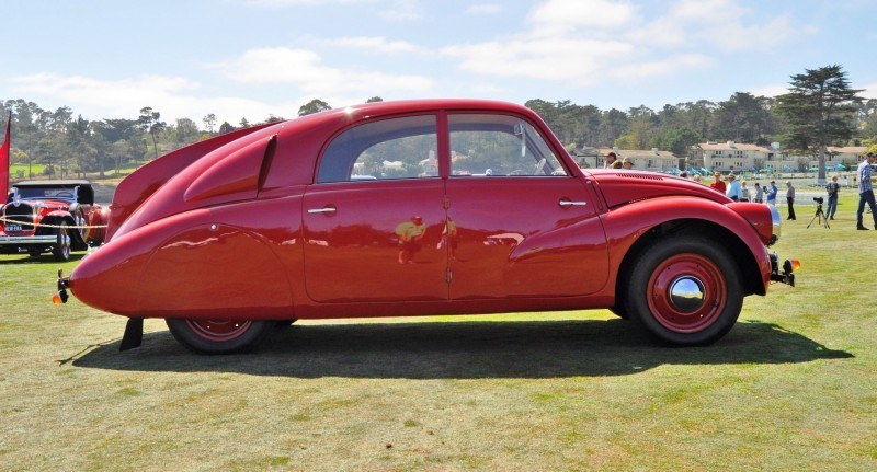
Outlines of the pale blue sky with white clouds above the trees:
M660 110L835 64L877 97L873 0L3 0L0 18L0 100L87 119L237 125L372 96Z

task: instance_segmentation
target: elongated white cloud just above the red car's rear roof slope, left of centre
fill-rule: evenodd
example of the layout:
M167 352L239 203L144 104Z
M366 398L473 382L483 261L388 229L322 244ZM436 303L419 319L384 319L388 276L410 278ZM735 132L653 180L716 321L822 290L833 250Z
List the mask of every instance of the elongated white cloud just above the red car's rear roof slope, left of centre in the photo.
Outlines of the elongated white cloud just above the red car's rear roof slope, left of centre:
M242 56L214 65L229 79L252 84L293 83L304 92L381 94L394 91L423 92L431 79L414 74L387 74L327 67L318 54L285 47L250 49Z

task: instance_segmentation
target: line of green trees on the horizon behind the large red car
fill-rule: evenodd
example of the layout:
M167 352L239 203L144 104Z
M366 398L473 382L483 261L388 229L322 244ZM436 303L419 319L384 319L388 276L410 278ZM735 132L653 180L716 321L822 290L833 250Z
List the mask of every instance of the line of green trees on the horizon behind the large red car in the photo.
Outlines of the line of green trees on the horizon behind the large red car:
M571 101L534 99L524 105L538 113L568 149L607 148L671 151L685 157L693 145L736 141L766 146L781 142L790 150L821 156L827 146L877 143L877 100L858 96L841 66L807 69L790 78L789 92L776 97L733 93L728 100L667 104L661 110L638 106L600 110ZM368 102L380 102L379 96ZM307 115L330 110L315 99L298 110ZM149 106L137 119L75 117L70 107L44 110L25 100L0 101L0 116L12 113L13 164L42 164L55 177L104 175L136 168L189 143L251 126L246 118L217 125L208 114L201 125L190 118L172 123ZM262 123L283 120L270 115ZM24 174L24 175L22 175ZM34 176L33 172L12 177Z

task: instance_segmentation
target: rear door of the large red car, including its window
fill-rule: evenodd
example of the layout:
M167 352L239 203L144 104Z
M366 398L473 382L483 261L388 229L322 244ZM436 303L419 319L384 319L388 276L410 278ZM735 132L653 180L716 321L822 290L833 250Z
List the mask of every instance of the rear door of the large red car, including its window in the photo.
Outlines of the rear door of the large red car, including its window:
M319 302L447 300L436 116L338 135L304 197L305 285Z

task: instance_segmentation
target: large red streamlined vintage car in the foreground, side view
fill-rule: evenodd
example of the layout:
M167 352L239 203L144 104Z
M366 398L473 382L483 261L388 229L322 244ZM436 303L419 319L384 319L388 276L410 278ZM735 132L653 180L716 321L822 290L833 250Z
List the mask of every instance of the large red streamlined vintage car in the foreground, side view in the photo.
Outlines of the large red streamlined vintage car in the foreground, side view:
M163 318L202 353L296 319L611 309L703 345L743 297L794 283L772 206L634 171L583 171L531 110L384 102L223 135L128 176L66 298Z

